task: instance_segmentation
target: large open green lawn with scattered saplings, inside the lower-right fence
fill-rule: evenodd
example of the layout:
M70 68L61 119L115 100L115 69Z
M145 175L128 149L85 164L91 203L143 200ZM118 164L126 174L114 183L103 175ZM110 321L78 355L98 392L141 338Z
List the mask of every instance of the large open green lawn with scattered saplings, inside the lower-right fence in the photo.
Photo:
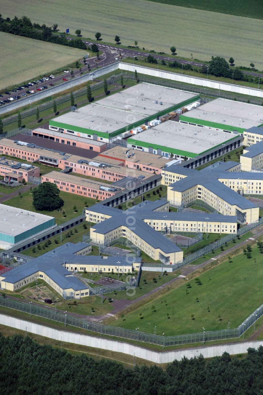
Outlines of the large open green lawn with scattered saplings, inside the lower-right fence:
M237 327L262 303L262 255L256 245L252 258L243 253L224 261L194 279L119 319L114 326L166 336ZM190 282L191 288L187 289ZM198 298L198 301L196 300ZM153 308L154 306L154 308ZM156 312L153 312L156 310ZM140 319L142 312L143 319ZM192 317L192 314L194 315ZM170 318L168 318L168 316ZM193 319L194 318L194 319Z

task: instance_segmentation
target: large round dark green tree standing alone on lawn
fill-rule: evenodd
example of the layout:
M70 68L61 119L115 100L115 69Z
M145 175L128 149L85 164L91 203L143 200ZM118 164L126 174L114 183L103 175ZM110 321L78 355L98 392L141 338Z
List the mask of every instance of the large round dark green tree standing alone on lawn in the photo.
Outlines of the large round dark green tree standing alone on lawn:
M37 188L33 189L33 206L38 211L53 211L60 209L64 201L60 198L60 190L56 184L43 182Z

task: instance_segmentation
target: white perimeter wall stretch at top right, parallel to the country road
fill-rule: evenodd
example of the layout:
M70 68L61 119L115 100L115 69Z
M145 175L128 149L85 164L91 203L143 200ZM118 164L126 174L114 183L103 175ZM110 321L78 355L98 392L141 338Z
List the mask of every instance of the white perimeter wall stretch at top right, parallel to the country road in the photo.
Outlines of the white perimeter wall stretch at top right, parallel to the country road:
M155 70L149 67L133 65L129 63L119 62L119 69L125 71L132 71L132 72L134 72L134 70L137 70L137 73L150 75L153 78L158 77L158 78L170 79L171 81L179 81L187 84L199 85L200 87L226 90L227 92L240 93L243 95L263 98L263 90L256 88L242 87L241 85L232 85L223 82L211 81L209 79L204 79L199 77L190 77L185 74L177 74L177 73L171 73L169 71Z

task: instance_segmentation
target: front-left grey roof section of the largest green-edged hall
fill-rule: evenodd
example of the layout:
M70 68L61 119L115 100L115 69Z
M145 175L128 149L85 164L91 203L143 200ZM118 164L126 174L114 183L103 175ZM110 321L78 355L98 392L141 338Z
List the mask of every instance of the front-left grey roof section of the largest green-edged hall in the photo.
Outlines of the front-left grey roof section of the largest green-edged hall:
M111 96L112 97L112 96ZM125 128L134 122L145 118L145 115L132 113L131 111L105 107L96 103L85 105L75 111L60 115L52 119L56 122L90 129L93 132L112 133Z

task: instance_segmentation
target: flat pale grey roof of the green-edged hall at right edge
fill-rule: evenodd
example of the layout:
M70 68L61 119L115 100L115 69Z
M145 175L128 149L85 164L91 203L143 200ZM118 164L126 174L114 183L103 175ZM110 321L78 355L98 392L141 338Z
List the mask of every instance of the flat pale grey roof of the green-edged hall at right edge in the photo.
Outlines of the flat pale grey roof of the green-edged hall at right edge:
M246 129L263 123L262 106L226 99L211 100L183 115Z

